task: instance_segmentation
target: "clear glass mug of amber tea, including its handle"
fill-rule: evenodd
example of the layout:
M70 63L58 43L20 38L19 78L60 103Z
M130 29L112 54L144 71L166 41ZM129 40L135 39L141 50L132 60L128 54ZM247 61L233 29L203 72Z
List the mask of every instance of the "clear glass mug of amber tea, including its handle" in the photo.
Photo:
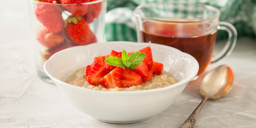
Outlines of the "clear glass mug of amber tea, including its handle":
M220 22L220 11L209 5L156 2L138 6L134 14L138 42L168 45L192 55L199 63L197 76L210 63L229 55L236 45L236 28ZM226 30L228 41L222 51L213 55L217 30Z

